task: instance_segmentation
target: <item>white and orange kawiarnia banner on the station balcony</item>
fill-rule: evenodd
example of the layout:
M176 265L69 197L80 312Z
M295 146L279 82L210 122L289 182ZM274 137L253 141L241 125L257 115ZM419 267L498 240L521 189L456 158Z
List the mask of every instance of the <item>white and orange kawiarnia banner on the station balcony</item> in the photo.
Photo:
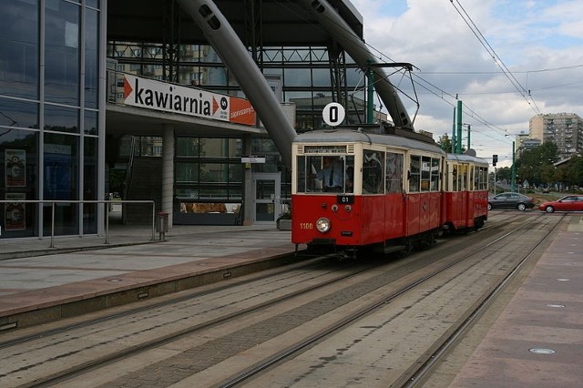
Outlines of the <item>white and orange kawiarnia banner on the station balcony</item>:
M124 75L124 103L164 112L254 125L255 109L238 97Z

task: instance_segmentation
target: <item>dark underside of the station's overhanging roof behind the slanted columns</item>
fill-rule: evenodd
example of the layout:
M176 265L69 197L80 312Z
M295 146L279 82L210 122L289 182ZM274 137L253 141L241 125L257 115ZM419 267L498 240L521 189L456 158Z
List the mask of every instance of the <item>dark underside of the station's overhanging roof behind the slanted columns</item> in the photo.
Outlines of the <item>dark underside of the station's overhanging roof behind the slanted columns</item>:
M328 0L356 35L363 37L363 17L349 0ZM246 23L253 2L214 0L243 42L249 36ZM192 18L179 11L179 29L172 32L167 1L123 0L107 2L107 39L162 43L163 36L179 36L182 44L205 44L206 38ZM326 46L331 37L311 13L296 0L262 0L261 42L263 46ZM258 15L255 15L256 17Z

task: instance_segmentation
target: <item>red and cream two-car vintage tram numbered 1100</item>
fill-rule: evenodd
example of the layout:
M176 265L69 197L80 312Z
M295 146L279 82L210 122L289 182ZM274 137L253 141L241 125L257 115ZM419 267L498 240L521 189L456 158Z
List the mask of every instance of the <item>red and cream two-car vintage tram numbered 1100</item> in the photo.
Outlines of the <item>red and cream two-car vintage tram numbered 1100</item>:
M448 156L432 138L318 130L292 146L292 242L346 256L428 246L487 220L487 162Z

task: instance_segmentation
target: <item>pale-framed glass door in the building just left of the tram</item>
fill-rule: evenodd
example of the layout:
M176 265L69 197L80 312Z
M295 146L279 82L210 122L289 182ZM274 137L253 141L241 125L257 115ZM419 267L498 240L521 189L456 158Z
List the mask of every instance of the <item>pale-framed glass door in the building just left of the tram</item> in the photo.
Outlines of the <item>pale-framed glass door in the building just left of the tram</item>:
M279 173L253 174L253 223L275 224L281 213Z

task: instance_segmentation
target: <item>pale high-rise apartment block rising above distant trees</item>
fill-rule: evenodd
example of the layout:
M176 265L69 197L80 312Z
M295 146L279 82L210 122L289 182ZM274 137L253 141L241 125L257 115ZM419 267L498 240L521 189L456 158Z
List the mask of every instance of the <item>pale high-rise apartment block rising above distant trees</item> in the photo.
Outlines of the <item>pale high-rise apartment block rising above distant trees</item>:
M583 119L575 113L537 115L528 123L530 138L541 144L552 141L557 144L558 157L570 158L583 151Z

